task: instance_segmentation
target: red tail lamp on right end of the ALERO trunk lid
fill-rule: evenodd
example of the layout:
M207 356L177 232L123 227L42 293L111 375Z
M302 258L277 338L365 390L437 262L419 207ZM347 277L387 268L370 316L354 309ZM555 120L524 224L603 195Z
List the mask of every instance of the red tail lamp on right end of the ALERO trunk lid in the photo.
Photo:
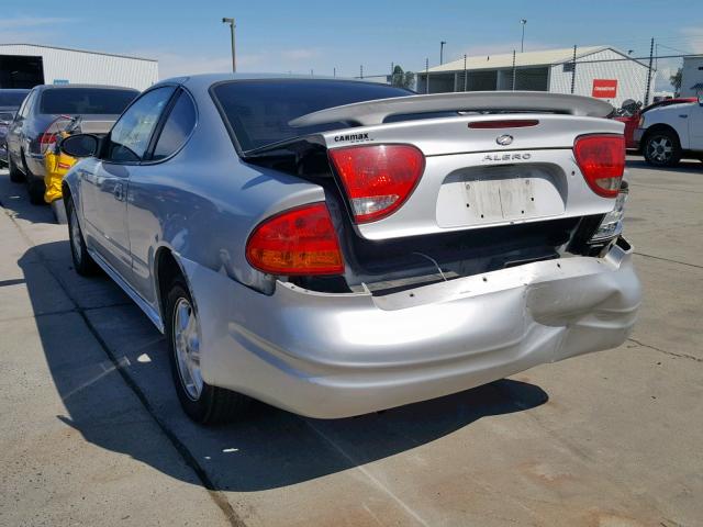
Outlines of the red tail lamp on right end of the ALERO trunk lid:
M585 182L603 198L616 198L625 171L625 137L582 135L573 144L576 161Z

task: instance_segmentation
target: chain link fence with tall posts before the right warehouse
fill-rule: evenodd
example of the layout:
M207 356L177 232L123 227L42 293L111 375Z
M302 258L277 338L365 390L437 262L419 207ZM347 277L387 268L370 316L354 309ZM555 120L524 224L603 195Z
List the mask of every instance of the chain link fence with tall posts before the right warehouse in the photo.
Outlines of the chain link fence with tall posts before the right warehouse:
M405 86L419 93L528 90L603 99L616 109L644 106L662 99L703 93L703 55L662 55L654 41L648 55L611 47L464 56L409 74L397 66L365 80ZM655 53L657 51L657 53Z

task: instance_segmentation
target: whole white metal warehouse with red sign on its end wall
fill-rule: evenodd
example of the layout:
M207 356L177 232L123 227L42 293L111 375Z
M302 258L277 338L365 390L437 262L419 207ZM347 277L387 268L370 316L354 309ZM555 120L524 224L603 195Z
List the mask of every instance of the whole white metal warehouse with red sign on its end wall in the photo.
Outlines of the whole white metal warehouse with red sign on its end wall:
M647 65L609 46L546 49L471 56L417 74L420 93L449 91L533 90L599 97L618 106L625 99L643 100ZM427 87L427 77L429 86ZM428 89L427 89L428 88Z

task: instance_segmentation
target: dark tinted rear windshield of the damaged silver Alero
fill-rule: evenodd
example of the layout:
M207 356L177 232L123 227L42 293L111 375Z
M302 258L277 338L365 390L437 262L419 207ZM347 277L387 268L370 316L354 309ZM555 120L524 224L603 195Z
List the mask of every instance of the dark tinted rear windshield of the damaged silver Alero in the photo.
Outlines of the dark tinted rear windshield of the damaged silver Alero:
M288 125L301 115L342 104L413 94L387 85L320 79L235 80L215 85L212 91L245 152L346 126L345 123L298 128Z

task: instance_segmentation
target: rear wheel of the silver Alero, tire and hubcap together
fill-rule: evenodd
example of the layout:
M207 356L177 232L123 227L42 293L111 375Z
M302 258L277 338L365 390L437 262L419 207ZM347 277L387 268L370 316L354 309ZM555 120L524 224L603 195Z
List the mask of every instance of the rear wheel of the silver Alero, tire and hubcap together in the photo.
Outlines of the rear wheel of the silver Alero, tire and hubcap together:
M183 412L196 423L212 425L241 417L250 399L212 386L200 375L200 324L182 278L176 278L166 296L165 327L171 377Z

